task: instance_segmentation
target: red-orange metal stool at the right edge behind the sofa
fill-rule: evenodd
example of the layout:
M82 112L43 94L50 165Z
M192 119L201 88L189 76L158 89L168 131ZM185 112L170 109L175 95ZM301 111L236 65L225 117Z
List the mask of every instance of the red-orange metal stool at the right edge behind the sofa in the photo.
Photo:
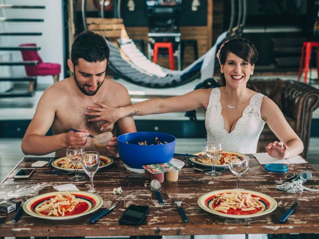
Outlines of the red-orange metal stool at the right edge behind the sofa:
M301 50L301 58L300 58L297 81L300 81L300 77L304 71L304 83L307 83L307 75L308 75L308 71L309 71L309 62L310 62L312 47L319 47L319 42L306 41L303 44L303 48ZM306 49L306 57L305 57L305 66L303 68L305 49ZM318 82L319 82L319 48L317 48L317 71L318 71Z

